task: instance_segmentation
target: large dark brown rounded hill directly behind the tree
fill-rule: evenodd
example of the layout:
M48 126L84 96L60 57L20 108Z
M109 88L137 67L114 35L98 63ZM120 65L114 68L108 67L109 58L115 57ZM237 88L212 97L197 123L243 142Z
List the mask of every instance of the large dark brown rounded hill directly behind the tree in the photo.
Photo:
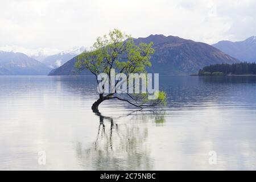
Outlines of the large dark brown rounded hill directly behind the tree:
M134 41L136 44L154 43L155 53L151 57L152 67L148 72L160 73L160 75L188 75L197 73L206 65L240 62L208 44L181 39L177 36L150 35ZM75 62L75 58L71 59L49 75L76 75ZM81 75L89 74L88 71L81 73Z

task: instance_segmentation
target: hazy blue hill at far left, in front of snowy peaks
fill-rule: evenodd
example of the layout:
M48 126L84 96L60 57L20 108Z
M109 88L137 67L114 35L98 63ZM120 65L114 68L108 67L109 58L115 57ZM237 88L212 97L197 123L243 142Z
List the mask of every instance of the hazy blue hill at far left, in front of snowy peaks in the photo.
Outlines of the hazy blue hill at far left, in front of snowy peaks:
M23 53L0 51L0 75L47 75L51 68Z

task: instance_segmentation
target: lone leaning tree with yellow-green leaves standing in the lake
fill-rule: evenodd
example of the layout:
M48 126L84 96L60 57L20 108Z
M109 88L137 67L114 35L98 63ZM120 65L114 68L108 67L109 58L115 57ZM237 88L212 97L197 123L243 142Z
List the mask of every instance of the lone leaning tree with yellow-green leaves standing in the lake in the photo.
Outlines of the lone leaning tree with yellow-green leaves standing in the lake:
M129 81L130 73L146 73L146 68L151 67L150 56L154 53L152 44L151 42L137 45L130 35L114 29L109 32L108 36L98 37L91 51L84 52L77 57L75 67L79 71L89 70L96 77L98 84L97 76L100 73L105 73L108 75L108 84L115 87L114 93L99 93L99 98L92 105L92 110L98 111L101 102L112 99L125 101L140 108L166 104L166 93L164 92L158 92L158 97L155 100L148 100L148 93L117 94L118 83L120 84L123 80L113 81L110 78L112 69L115 69L115 73L127 75L127 81Z

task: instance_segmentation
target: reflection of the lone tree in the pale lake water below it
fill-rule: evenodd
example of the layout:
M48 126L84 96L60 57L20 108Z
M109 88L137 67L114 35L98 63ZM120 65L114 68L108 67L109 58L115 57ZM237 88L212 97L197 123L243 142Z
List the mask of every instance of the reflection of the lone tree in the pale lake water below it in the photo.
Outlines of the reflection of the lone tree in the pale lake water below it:
M150 170L154 167L145 123L154 121L156 126L163 125L163 113L133 111L117 118L94 113L100 120L95 141L86 147L77 142L76 146L77 158L84 169Z

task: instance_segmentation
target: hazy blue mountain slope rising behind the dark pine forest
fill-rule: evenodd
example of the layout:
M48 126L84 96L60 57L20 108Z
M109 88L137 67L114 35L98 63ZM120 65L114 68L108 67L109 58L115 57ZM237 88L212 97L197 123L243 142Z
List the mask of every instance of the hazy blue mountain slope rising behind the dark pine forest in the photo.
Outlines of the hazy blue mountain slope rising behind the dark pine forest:
M223 40L212 46L241 61L256 62L256 36L240 42Z

